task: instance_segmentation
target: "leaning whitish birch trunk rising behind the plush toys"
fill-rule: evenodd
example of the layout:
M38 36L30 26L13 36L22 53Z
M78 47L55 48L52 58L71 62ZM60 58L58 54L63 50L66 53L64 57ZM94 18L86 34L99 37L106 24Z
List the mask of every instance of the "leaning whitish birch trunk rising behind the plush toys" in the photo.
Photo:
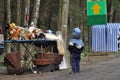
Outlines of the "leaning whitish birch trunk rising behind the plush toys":
M37 25L37 20L39 17L39 8L40 8L40 0L35 0L34 7L33 7L33 13L32 13L32 19L31 19L31 22L34 22L35 25Z

